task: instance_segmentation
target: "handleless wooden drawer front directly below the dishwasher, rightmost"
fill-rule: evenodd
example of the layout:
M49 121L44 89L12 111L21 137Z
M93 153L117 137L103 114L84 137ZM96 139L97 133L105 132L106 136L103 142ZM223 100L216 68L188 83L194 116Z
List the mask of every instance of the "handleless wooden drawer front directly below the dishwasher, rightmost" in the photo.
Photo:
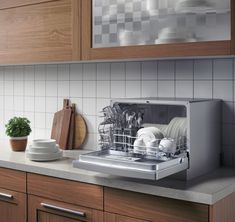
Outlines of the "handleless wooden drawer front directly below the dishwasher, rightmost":
M209 219L207 205L111 188L104 189L104 210L153 222L208 222Z

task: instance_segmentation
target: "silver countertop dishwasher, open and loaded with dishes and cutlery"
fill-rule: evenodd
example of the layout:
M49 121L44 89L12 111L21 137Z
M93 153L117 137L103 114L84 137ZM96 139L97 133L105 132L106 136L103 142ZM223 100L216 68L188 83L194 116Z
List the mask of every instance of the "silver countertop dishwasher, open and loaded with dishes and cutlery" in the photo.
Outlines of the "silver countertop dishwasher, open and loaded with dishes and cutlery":
M77 168L117 176L188 180L219 166L221 101L118 99L102 110L100 150Z

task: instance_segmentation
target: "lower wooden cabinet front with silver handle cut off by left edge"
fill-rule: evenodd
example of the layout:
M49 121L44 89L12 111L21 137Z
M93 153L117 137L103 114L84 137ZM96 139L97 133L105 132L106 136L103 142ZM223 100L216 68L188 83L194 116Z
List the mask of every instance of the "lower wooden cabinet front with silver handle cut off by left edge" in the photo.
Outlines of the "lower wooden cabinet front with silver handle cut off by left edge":
M26 222L26 194L0 189L0 221Z

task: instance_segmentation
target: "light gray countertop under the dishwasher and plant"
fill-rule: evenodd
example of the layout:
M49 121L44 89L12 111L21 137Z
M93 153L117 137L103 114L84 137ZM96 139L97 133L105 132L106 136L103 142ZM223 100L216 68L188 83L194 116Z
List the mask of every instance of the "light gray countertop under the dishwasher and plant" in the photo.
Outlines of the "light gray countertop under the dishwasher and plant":
M33 162L24 152L12 152L6 143L1 143L0 167L208 205L235 191L235 169L220 168L190 181L169 178L146 181L73 168L69 156L78 157L81 152L66 151L60 160Z

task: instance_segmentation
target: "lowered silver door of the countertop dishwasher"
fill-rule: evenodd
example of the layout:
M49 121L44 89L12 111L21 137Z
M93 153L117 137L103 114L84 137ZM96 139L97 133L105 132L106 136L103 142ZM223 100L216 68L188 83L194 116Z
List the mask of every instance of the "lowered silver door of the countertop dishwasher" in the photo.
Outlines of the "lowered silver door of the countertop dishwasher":
M186 153L157 160L148 156L107 149L82 154L78 160L73 161L73 166L117 176L159 180L188 169L189 161Z

